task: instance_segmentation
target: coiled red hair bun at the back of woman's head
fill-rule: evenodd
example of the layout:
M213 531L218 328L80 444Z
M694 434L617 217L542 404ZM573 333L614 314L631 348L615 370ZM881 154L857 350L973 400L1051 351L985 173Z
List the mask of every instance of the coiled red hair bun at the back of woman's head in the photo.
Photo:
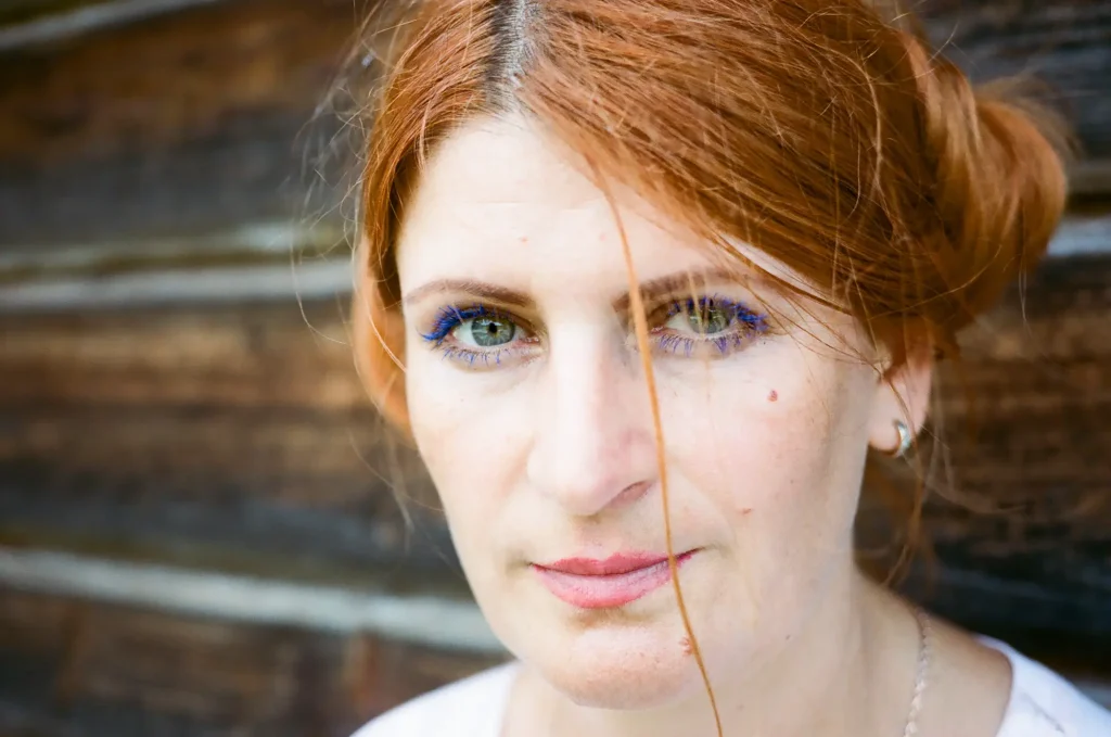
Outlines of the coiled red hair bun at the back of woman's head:
M951 61L908 47L942 230L932 245L944 305L935 317L952 335L1045 253L1067 199L1067 128L1014 84L973 91Z

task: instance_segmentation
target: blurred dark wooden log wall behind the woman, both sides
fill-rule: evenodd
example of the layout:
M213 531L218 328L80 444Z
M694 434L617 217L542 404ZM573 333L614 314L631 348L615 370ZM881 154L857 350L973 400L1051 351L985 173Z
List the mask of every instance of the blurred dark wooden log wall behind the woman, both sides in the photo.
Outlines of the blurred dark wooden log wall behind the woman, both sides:
M952 477L1008 511L932 500L902 586L1111 705L1111 0L919 6L1083 156L942 375ZM0 737L346 736L504 657L347 345L368 7L0 0Z

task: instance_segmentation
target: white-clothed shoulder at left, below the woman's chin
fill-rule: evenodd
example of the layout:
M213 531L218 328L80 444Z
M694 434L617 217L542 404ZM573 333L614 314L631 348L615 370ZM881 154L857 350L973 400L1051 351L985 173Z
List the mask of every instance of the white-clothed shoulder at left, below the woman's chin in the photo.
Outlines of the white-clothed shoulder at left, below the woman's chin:
M497 737L517 664L442 686L371 720L352 737Z

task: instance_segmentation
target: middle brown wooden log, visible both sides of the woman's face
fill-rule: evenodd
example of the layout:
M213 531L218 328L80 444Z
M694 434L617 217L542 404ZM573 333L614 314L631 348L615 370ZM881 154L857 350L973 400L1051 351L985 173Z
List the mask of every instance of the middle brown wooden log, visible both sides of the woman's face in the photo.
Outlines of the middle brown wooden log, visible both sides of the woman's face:
M363 399L341 307L304 307L0 315L0 539L459 586L419 460ZM953 479L1022 512L928 509L943 556L929 596L958 620L1111 643L1109 315L1111 257L1050 261L968 337L960 377L942 374ZM887 530L874 509L861 526Z

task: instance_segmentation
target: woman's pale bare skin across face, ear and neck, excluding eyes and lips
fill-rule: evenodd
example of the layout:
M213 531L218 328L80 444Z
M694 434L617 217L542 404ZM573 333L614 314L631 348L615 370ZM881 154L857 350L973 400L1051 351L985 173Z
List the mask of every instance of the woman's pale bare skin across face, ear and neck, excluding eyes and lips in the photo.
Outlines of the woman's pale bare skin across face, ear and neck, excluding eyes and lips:
M412 431L476 599L523 664L506 734L713 735L670 585L587 610L531 568L667 550L620 231L580 171L518 118L468 123L434 151L397 250ZM882 349L852 317L800 312L752 271L703 277L721 266L714 251L629 193L618 212L640 283L687 278L647 312L673 549L698 549L679 579L725 734L901 735L918 630L857 571L852 524L869 446L893 448L895 419L913 430L924 420L929 362L888 381ZM692 293L744 305L765 329L739 332L725 353L668 352L661 339L703 338L687 316L661 317L660 305ZM477 348L473 321L440 342L422 337L444 308L476 301L511 316L499 318L516 331L501 352L459 355ZM952 674L931 685L921 734L993 735L1005 660L941 626L937 663ZM945 707L963 709L955 731Z

